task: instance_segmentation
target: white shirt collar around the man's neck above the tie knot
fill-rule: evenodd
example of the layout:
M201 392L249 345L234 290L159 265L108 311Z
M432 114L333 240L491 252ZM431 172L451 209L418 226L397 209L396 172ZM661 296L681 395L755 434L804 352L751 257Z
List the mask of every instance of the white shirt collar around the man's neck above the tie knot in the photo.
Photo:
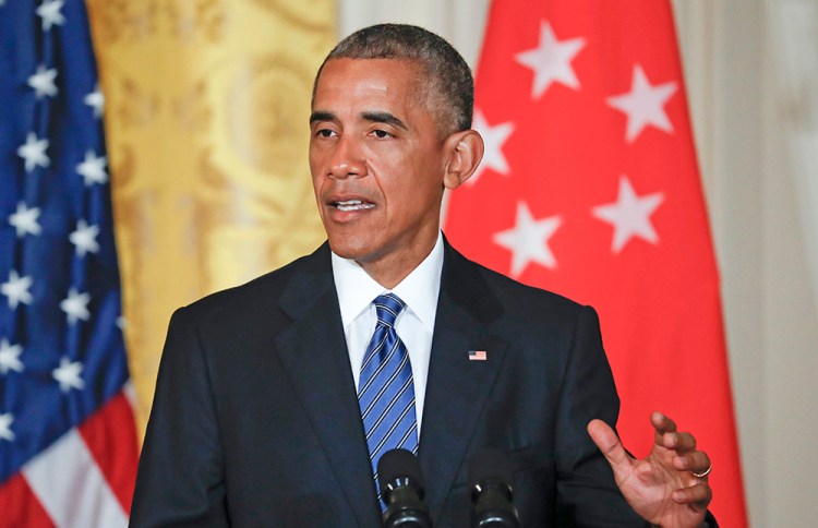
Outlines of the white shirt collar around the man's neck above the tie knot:
M377 284L351 259L333 253L332 263L345 328L369 308L375 297L392 291L406 302L429 332L434 332L443 272L443 235L440 231L432 252L392 290Z

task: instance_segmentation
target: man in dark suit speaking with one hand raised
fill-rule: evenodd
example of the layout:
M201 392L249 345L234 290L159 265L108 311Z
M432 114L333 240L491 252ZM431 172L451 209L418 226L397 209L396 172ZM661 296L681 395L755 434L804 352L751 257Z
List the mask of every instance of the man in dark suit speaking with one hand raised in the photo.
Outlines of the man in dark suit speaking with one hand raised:
M469 526L468 463L485 446L508 454L524 526L702 524L710 463L689 433L655 413L647 459L618 442L593 310L442 236L444 189L483 153L472 91L460 56L417 27L365 28L330 52L310 119L328 241L173 315L133 526L378 526L372 463L398 446L418 453L436 526ZM389 321L383 293L402 299ZM392 368L376 341L408 377L373 424L368 365Z

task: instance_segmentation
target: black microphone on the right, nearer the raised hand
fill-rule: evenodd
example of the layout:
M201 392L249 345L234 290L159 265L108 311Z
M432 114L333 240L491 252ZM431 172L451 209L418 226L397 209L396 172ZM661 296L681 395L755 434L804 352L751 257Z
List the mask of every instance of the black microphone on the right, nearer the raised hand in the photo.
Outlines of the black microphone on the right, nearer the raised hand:
M519 528L514 507L508 455L483 447L469 464L471 526L473 528Z

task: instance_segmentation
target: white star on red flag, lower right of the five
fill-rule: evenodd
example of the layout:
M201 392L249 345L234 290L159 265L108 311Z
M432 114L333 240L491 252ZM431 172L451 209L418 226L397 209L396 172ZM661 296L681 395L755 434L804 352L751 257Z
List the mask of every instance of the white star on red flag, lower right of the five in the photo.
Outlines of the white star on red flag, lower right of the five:
M633 237L657 244L659 236L650 223L650 215L663 201L661 192L637 196L628 178L621 177L616 202L593 207L593 216L614 226L611 250L618 253Z

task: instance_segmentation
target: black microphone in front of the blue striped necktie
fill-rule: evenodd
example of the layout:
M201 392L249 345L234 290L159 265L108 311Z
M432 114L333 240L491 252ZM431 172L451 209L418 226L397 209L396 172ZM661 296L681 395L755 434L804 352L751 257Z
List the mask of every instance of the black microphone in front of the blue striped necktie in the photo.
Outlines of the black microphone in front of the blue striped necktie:
M377 461L377 481L386 503L386 528L432 528L423 502L423 472L418 458L406 449L389 449Z

